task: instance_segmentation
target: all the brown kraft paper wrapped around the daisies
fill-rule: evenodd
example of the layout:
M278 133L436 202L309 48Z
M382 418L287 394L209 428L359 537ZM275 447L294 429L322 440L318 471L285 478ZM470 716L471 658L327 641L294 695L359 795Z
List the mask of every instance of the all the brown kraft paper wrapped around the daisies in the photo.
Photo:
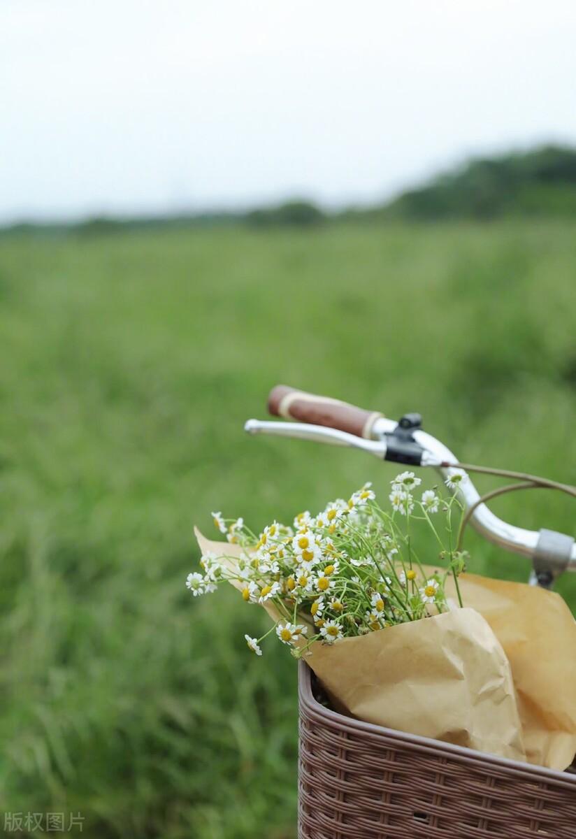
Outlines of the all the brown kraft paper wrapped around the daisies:
M195 533L203 553L242 553ZM576 623L566 603L521 583L472 574L459 581L464 609L315 643L306 661L353 717L565 769L576 753Z

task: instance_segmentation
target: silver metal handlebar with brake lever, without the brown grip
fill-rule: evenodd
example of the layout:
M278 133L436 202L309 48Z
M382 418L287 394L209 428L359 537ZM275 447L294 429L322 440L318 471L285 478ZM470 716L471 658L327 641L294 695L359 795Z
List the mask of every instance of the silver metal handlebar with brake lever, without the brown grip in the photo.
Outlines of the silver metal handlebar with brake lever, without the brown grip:
M399 430L399 427L400 424L394 420L380 417L372 425L372 439L365 440L335 428L324 425L309 425L308 423L248 420L244 426L250 434L278 435L329 443L335 446L353 446L379 459L415 465L416 461L402 460L401 456L397 454L392 456L389 451L389 442ZM454 474L454 467L446 466L446 464L457 463L458 460L449 448L444 446L444 443L419 427L414 428L410 437L423 450L422 458L419 461L420 466L433 466L443 480ZM467 480L461 482L458 488L450 491L458 495L459 500L464 504L464 508L475 507L470 524L485 539L489 539L490 542L505 550L532 559L532 574L530 576L532 585L550 588L553 586L554 580L563 571L576 571L576 543L574 543L572 537L552 530L542 529L537 533L533 530L507 524L492 513L484 503L478 503L480 494L470 480L470 476L467 477Z

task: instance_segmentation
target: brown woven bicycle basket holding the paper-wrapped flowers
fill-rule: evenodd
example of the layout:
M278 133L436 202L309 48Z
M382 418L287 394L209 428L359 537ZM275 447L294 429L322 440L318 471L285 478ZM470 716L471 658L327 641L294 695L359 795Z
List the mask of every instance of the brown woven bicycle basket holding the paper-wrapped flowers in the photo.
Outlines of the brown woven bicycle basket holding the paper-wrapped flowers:
M300 662L298 839L576 839L576 774L324 706Z

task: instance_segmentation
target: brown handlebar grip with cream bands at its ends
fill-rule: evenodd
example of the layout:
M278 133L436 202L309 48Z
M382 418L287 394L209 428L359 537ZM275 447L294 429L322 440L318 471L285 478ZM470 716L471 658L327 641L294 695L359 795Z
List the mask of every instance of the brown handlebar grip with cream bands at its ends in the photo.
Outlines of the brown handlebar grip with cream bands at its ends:
M312 425L327 425L365 440L371 440L374 423L383 415L379 411L356 408L340 402L340 399L289 388L286 384L277 384L272 388L268 396L268 410L274 416Z

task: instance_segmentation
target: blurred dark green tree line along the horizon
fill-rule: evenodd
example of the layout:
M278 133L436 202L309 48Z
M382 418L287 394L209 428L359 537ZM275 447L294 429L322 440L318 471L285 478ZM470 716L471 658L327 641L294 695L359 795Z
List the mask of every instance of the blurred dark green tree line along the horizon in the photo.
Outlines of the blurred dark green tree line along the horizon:
M246 212L205 212L136 218L97 217L73 224L16 224L0 232L76 232L85 236L146 227L314 227L330 221L490 220L501 216L573 216L576 149L547 145L471 160L427 185L372 207L327 212L298 199Z

